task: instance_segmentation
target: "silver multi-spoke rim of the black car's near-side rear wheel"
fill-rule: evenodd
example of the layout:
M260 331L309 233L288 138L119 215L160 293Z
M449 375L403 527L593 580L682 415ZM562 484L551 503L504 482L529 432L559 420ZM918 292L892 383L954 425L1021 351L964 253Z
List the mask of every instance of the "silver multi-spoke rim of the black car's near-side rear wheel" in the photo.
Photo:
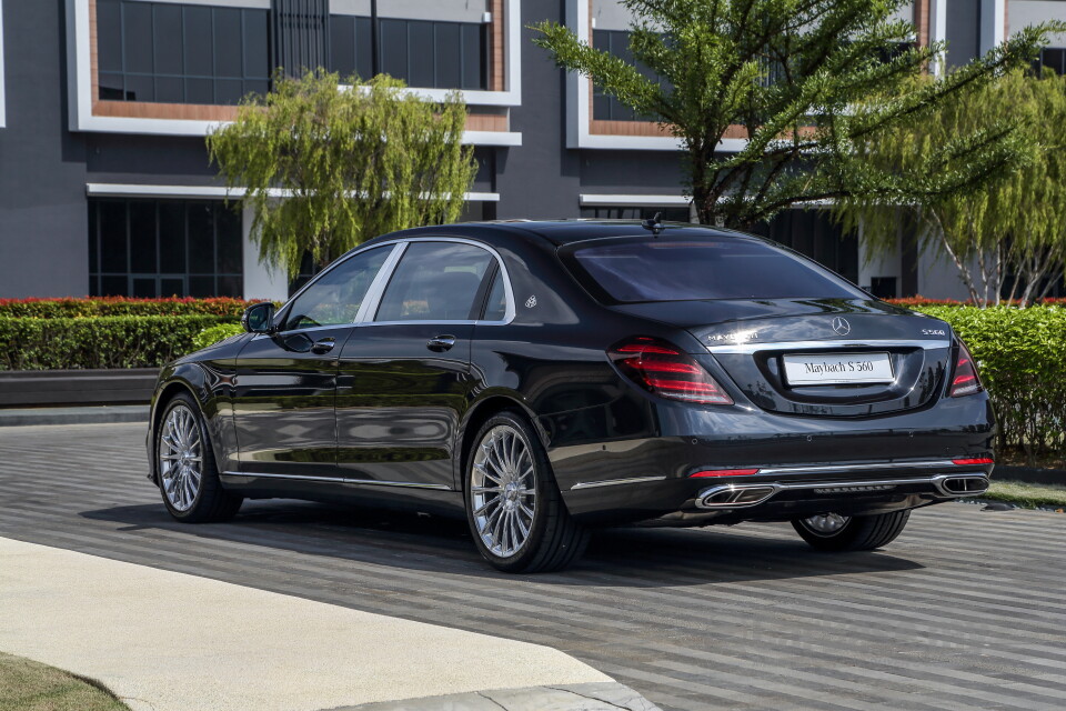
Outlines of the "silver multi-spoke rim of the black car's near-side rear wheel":
M489 430L474 451L470 475L474 524L493 555L510 558L530 539L536 473L522 434L507 424Z

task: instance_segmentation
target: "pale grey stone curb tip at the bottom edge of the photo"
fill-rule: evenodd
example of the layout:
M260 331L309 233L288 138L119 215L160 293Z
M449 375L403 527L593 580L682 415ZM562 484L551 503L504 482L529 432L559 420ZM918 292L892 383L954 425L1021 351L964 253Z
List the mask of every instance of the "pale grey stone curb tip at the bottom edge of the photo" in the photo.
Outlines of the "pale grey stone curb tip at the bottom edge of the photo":
M496 689L423 699L382 701L329 711L661 711L617 682Z

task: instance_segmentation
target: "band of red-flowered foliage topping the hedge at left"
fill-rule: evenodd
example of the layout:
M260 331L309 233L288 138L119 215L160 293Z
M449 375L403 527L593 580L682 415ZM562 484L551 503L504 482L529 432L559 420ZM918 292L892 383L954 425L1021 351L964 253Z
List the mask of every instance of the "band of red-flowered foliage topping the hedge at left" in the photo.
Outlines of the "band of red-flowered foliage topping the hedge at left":
M62 319L99 316L184 316L204 313L240 317L254 301L242 299L0 299L0 317Z

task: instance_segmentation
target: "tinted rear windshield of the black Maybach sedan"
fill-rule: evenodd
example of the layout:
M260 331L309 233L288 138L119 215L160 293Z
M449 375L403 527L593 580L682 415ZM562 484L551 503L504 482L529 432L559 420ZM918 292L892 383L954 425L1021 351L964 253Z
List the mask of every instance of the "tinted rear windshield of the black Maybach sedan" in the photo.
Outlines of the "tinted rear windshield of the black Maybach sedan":
M703 299L866 299L816 263L745 237L580 242L564 263L605 302Z

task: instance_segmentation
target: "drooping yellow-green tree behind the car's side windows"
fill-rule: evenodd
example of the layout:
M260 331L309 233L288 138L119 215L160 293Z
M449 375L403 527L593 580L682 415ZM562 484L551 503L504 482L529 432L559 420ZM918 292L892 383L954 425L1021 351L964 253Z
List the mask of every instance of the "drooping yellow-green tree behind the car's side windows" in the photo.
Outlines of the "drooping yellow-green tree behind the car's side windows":
M383 74L339 83L279 76L208 137L227 187L247 188L260 260L290 278L306 252L321 269L383 232L454 222L474 179L457 93L438 104Z

